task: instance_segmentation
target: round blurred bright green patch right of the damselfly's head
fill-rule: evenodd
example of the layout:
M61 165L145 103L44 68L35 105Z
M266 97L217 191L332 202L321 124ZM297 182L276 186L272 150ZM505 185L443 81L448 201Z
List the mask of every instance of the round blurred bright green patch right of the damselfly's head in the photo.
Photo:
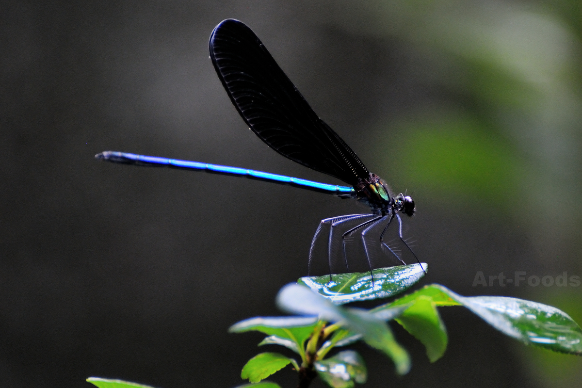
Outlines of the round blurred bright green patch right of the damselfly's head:
M409 123L406 130L398 144L406 162L391 169L397 179L408 176L412 187L430 191L447 208L463 200L512 205L499 198L518 190L522 167L509 145L483 123L455 116Z

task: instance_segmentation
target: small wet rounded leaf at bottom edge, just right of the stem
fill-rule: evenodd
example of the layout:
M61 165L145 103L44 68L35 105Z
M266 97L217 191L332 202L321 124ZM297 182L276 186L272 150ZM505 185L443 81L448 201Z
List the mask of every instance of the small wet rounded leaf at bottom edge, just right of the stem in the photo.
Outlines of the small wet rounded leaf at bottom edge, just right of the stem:
M364 359L353 350L342 351L331 358L316 361L315 370L333 388L352 388L354 381L363 384L367 379Z

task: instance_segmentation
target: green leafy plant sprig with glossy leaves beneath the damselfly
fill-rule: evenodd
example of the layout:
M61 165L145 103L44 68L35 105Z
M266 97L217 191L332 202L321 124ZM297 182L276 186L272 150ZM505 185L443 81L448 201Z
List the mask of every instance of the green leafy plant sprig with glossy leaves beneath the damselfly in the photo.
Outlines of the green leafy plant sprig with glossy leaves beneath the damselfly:
M422 266L422 267L421 267ZM343 304L398 295L424 276L427 264L375 269L373 273L344 273L301 277L279 291L276 304L293 316L255 317L229 331L267 334L259 346L275 344L299 355L300 362L281 353L255 355L244 365L241 378L250 384L237 388L279 388L265 379L292 365L299 388L317 377L332 388L352 388L367 379L364 359L356 351L329 352L362 340L392 359L396 373L410 371L410 357L395 340L389 321L396 321L426 348L428 359L445 353L448 336L437 307L464 306L500 332L524 344L560 353L582 355L582 329L565 312L537 302L509 297L463 297L440 284L430 284L372 309ZM331 279L331 280L330 280ZM90 378L100 388L149 388L120 380Z

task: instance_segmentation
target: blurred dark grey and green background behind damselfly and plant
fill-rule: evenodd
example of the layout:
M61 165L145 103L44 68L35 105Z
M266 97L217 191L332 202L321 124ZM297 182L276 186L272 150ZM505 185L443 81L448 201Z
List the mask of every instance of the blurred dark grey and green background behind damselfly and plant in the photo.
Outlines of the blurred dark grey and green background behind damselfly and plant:
M0 386L239 385L262 336L228 327L281 314L276 292L307 274L318 222L365 211L253 180L95 161L116 149L340 183L246 128L208 58L228 17L255 31L372 172L413 195L407 236L430 265L421 284L544 302L582 322L582 287L472 286L478 271L582 276L581 9L3 2ZM523 346L462 308L441 313L450 344L435 364L393 325L413 358L403 378L357 347L368 386L582 384L581 358Z

